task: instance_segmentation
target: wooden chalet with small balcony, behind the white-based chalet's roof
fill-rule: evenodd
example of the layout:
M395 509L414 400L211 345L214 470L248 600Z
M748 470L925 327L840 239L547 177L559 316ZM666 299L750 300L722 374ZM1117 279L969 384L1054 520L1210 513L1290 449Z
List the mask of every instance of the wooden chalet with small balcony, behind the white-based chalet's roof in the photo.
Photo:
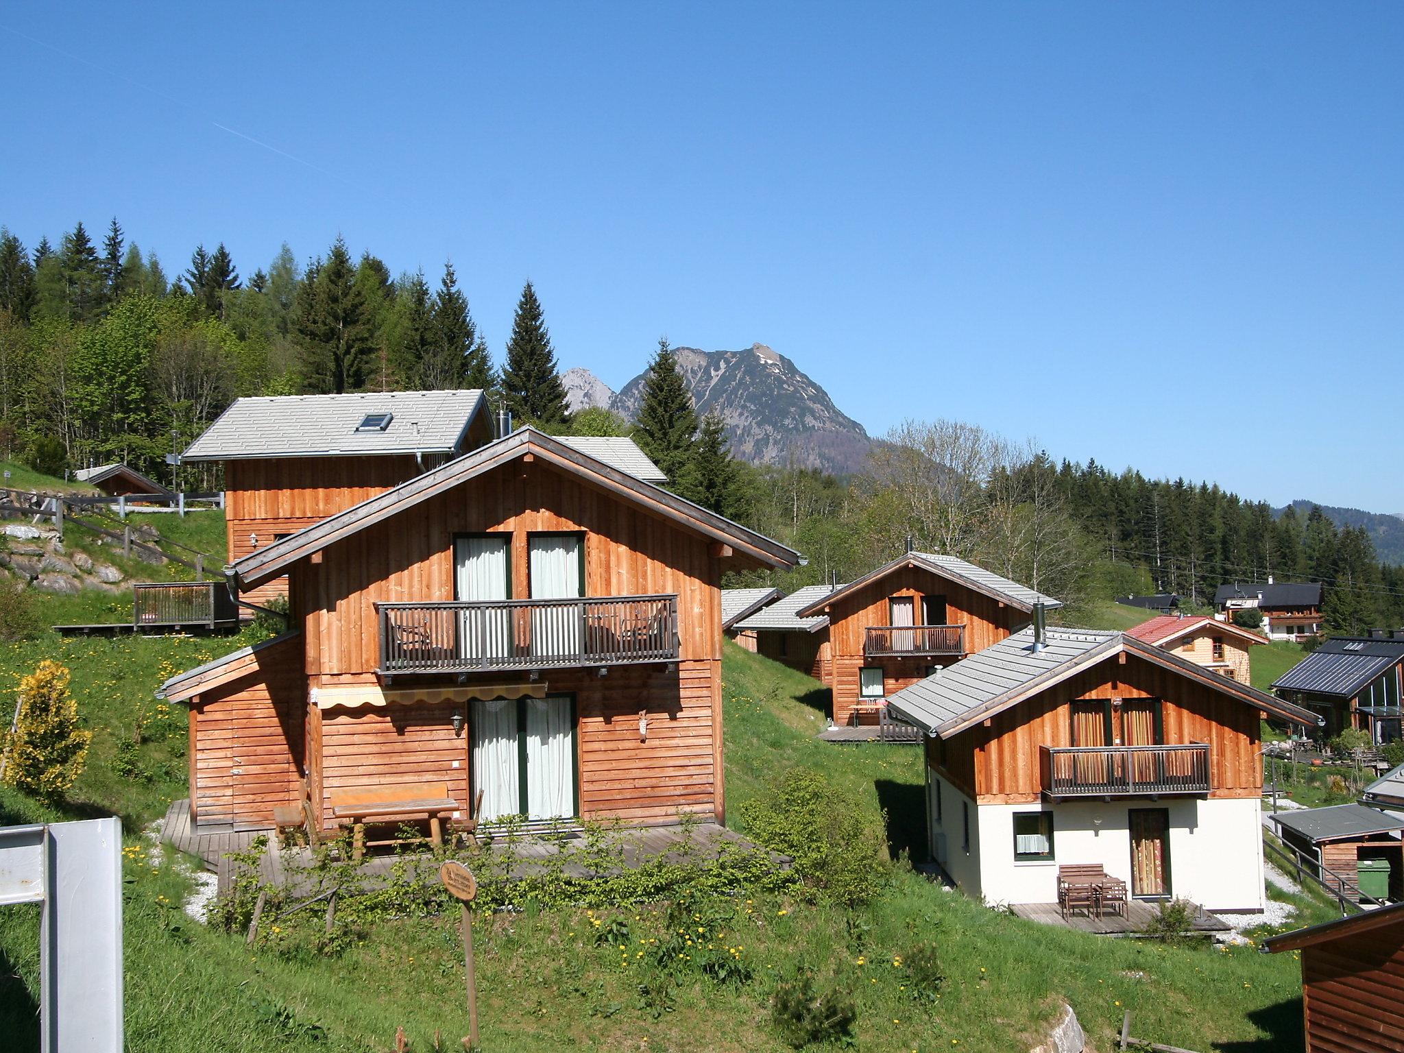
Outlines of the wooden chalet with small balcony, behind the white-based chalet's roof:
M1005 639L1040 602L1061 607L963 559L908 552L824 590L796 616L827 619L823 680L833 691L834 723L876 723L894 692Z

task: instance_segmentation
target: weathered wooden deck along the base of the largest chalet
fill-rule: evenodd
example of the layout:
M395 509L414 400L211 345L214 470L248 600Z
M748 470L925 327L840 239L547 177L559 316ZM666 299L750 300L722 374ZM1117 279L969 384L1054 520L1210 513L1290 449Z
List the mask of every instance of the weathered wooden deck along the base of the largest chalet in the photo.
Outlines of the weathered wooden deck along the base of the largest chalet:
M279 851L271 827L195 826L190 821L190 802L177 800L167 809L166 823L161 828L163 841L184 852L201 856L205 861L205 868L219 875L220 892L225 892L230 880L229 852L246 851L260 834L268 835L268 849L258 862L263 880L271 885L295 883L296 872L310 865L312 849L285 848ZM671 862L682 862L687 852L680 826L626 827L619 831L619 835L623 844L623 865L629 868L658 856ZM578 845L580 834L566 833L563 837L521 834L514 838L511 845L505 842L505 838L480 838L470 841L466 854L487 852L500 856L511 851L517 862L510 876L521 878L546 869L552 856L560 852L562 844ZM691 858L699 862L715 858L723 844L754 848L744 837L717 823L698 823L692 828ZM365 873L372 878L389 873L396 861L403 858L404 854L368 855L364 863ZM790 861L776 855L775 862L776 866L788 866ZM578 863L567 865L564 873L571 878L591 876L591 872ZM438 880L438 878L431 876L430 880Z

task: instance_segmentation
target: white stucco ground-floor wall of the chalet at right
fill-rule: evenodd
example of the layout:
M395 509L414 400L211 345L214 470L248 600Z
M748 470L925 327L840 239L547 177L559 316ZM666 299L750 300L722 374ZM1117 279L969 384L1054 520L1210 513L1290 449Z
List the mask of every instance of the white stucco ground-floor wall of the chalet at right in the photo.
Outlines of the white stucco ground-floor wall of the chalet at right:
M948 802L956 799L946 788ZM1170 885L1175 896L1207 910L1262 910L1262 827L1257 797L1207 800L1196 797L1126 797L1112 802L1077 800L1057 804L981 804L980 851L970 865L979 880L951 876L988 903L1056 903L1060 863L1101 863L1112 876L1132 885L1132 845L1127 812L1163 807L1170 812ZM1014 816L1019 812L1053 812L1052 861L1014 859ZM946 821L951 824L948 804ZM1094 820L1101 819L1101 823ZM959 823L959 814L956 816ZM959 855L959 835L948 854ZM977 892L979 890L979 892Z

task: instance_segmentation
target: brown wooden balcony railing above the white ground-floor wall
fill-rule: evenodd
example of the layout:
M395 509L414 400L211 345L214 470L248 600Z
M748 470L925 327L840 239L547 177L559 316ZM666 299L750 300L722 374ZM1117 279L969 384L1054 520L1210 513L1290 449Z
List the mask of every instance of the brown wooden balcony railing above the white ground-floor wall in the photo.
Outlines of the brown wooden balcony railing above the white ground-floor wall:
M1040 747L1050 797L1209 792L1209 746Z

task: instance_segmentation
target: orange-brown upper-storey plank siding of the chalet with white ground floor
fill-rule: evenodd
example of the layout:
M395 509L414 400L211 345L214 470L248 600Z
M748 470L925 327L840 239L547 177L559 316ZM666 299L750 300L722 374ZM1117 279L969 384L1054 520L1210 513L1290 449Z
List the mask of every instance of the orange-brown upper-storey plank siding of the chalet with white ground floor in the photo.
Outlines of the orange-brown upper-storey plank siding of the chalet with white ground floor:
M928 762L979 803L1029 803L1042 793L1039 747L1073 746L1074 699L1161 699L1164 744L1209 744L1209 796L1258 797L1259 712L1134 654L1112 656L945 743ZM1113 716L1119 741L1120 716ZM942 760L943 755L943 760Z

